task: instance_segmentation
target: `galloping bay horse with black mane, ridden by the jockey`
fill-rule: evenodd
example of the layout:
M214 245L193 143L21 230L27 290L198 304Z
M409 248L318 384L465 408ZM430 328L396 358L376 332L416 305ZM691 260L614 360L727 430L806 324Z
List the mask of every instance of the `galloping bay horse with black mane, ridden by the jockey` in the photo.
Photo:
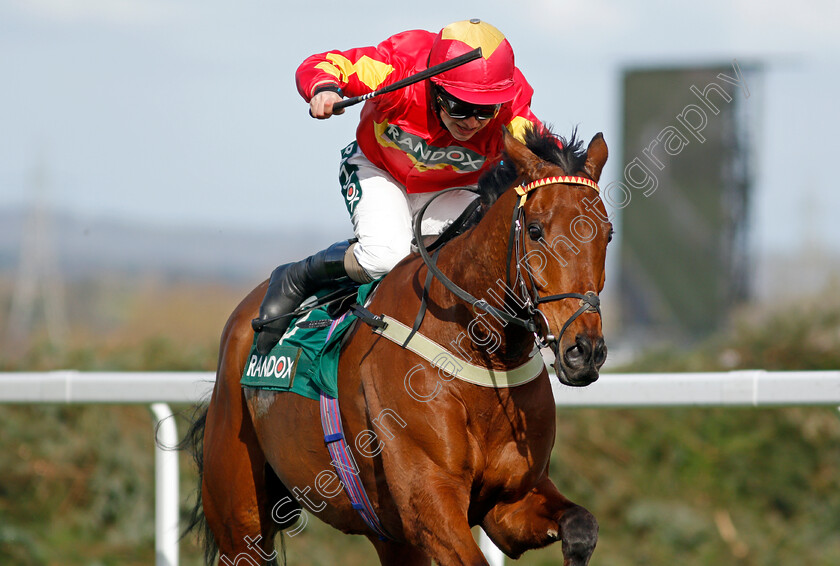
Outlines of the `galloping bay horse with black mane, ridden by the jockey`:
M567 142L532 131L526 144L505 135L503 160L480 185L480 220L437 252L449 283L427 282L422 335L496 372L539 356L536 339L554 350L563 383L598 378L606 347L597 297L612 228L596 183L607 146L599 133L581 147L574 133ZM429 269L409 255L367 308L410 326ZM502 282L504 292L490 292ZM475 525L512 558L559 540L565 565L589 563L597 521L548 477L555 405L541 360L527 383L485 387L356 324L339 360L340 420L388 535L377 536L332 472L319 403L240 386L265 289L231 314L212 397L190 433L201 483L190 528L204 524L208 564L217 552L223 565L276 563L275 535L302 528L308 513L367 536L383 565L486 565Z

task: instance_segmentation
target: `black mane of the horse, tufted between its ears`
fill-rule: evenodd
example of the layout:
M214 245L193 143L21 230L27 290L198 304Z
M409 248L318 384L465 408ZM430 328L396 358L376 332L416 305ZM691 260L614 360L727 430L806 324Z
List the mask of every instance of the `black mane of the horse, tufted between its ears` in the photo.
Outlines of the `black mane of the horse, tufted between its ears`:
M549 126L530 127L525 131L524 141L525 146L537 157L558 165L567 175L574 175L583 169L586 151L582 149L583 141L577 139L577 128L572 130L571 137L566 140L552 132ZM502 160L478 180L482 209L486 211L491 204L496 202L496 199L513 184L516 177L516 167L503 152Z

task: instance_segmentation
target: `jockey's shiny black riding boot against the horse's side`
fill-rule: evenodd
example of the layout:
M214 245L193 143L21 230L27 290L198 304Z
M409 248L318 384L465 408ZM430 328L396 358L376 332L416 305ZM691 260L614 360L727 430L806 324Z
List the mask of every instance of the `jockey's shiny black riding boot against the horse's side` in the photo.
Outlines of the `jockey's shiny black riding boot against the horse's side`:
M277 344L289 327L291 313L307 297L332 281L347 277L344 268L344 254L350 242L345 240L321 250L315 255L281 265L271 272L268 289L265 292L260 316L251 321L251 326L260 335L257 337L257 351L267 354Z

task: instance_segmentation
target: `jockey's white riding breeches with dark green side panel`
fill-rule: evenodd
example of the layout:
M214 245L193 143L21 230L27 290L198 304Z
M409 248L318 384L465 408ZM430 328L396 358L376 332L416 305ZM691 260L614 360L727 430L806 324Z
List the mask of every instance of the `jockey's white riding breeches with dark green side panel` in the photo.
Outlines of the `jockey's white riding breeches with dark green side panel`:
M355 142L344 149L342 157L341 192L359 240L353 253L368 275L377 279L409 254L414 219L423 205L438 193L406 193L405 187L373 165ZM476 193L464 190L435 199L423 216L423 235L443 232L477 197Z

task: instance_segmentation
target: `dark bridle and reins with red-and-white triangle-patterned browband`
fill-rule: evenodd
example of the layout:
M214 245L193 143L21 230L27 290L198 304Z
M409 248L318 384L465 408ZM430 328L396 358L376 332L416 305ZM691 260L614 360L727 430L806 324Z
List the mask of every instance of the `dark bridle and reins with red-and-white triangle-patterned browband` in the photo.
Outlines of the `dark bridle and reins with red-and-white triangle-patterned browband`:
M534 281L534 274L531 271L531 267L527 261L523 261L525 256L523 255L525 240L524 240L524 233L522 227L525 224L525 202L528 199L528 195L541 187L545 187L548 185L579 185L579 186L586 186L594 189L596 192L600 193L600 189L598 188L598 184L594 181L587 179L585 177L580 176L571 176L571 175L564 175L558 177L545 177L542 179L538 179L536 181L532 181L528 184L523 184L515 187L516 194L519 195L519 200L513 208L513 217L511 218L510 223L510 231L508 235L508 247L507 247L507 270L506 270L506 284L508 289L514 293L517 302L520 305L520 310L524 310L526 315L525 316L516 316L513 314L508 313L505 310L499 309L494 307L493 305L489 304L484 299L478 299L472 296L469 292L465 291L451 279L449 279L440 269L437 267L436 264L436 257L432 257L429 254L429 249L424 245L423 238L421 236L420 226L423 221L423 216L426 212L426 209L429 205L440 195L455 191L455 190L468 190L463 189L461 187L455 187L451 189L444 189L436 194L432 199L430 199L423 208L420 209L420 212L417 214L417 218L414 221L414 238L415 243L417 245L417 249L420 252L420 257L423 258L423 262L426 264L426 267L429 270L429 275L436 277L444 287L446 287L450 292L452 292L455 296L459 299L469 303L473 307L473 312L477 312L478 309L483 310L493 317L503 321L504 323L511 323L517 326L520 326L526 329L529 332L534 334L534 341L540 348L551 347L554 350L555 355L557 355L560 339L563 337L563 334L566 332L566 329L577 320L577 318L585 312L597 312L598 315L601 315L601 300L598 297L598 294L595 291L587 291L586 293L560 293L557 295L549 295L546 297L541 297L539 292L537 291L536 282ZM478 199L476 199L477 201ZM474 202L474 206L468 209L469 214L462 214L459 218L459 221L466 220L467 217L471 216L471 213L477 207L477 203ZM456 221L457 223L458 221ZM435 242L437 244L437 242ZM433 244L433 245L435 245ZM516 279L513 282L513 286L511 286L510 282L510 273L511 273L511 262L516 260ZM417 320L415 321L415 328L414 331L419 327L419 323L422 321L422 314L425 311L425 298L428 294L428 287L431 281L431 277L427 277L426 285L424 287L424 295L423 295L423 306L421 306L421 312L418 313ZM519 293L515 291L515 289L519 290ZM550 303L554 301L560 301L563 299L579 299L580 300L580 308L575 311L572 316L569 317L568 320L563 324L560 333L557 335L551 334L551 328L548 323L548 319L546 318L545 314L538 308L540 304L543 303ZM539 324L537 324L536 320L537 317L541 317L543 325L545 326L546 332L543 333L542 329Z

